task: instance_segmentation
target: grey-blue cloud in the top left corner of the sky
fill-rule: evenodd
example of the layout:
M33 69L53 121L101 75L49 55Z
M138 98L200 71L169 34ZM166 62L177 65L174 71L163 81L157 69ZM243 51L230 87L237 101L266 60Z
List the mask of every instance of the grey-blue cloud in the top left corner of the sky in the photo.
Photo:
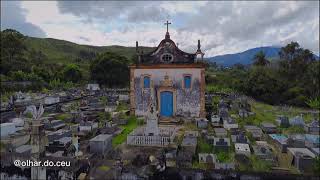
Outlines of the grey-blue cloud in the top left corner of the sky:
M45 37L40 27L26 21L25 14L20 2L1 1L1 30L16 29L28 36Z

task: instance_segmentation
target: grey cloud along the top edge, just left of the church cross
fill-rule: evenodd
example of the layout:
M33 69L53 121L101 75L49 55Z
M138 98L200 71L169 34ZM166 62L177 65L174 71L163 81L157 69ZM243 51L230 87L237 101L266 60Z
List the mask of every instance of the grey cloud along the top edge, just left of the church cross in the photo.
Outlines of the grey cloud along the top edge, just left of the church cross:
M159 21L169 12L151 1L58 1L61 13L82 17L85 21L125 19L129 22Z

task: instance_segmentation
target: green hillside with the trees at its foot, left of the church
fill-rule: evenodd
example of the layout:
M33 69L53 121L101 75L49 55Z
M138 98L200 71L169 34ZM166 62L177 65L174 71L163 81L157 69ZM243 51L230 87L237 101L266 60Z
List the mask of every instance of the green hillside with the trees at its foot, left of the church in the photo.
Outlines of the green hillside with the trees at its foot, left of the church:
M154 48L139 49L148 53ZM39 87L30 88L41 89L44 82L52 82L52 87L62 87L68 82L89 81L91 62L105 52L120 55L119 61L127 67L133 62L136 47L81 45L53 38L28 37L7 29L1 31L1 52L5 54L1 56L1 81L33 81L38 82ZM77 78L71 80L71 77Z

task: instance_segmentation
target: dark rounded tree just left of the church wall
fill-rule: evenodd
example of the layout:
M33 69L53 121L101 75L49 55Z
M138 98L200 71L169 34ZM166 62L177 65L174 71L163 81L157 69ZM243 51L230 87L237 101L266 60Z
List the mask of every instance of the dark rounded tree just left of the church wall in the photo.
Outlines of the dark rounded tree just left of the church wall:
M129 84L129 60L116 53L106 52L90 65L91 79L108 87L125 87Z

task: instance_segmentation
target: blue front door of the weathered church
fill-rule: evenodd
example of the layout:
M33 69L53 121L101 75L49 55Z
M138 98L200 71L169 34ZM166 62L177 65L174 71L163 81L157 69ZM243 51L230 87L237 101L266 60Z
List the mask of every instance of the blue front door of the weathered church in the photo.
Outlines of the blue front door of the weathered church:
M163 91L160 93L161 105L160 115L170 117L173 115L173 93L170 91Z

